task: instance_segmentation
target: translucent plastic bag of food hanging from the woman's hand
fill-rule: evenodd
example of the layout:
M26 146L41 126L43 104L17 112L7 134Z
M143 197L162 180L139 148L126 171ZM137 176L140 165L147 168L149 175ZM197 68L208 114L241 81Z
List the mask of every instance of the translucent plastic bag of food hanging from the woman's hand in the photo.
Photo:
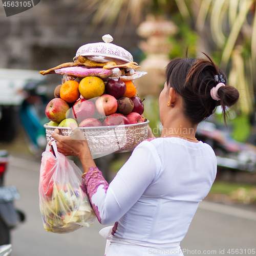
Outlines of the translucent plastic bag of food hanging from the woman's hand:
M39 178L39 205L44 228L53 233L68 233L91 226L95 214L88 196L81 189L81 170L65 155L47 145L42 153Z

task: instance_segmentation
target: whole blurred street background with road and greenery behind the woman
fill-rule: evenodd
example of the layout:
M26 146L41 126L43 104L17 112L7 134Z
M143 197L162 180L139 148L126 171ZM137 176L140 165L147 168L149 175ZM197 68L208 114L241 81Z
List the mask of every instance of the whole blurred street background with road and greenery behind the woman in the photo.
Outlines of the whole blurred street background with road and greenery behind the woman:
M27 217L11 232L14 256L104 254L97 221L69 234L46 232L38 199L43 124L49 121L45 107L62 78L38 72L73 61L80 46L101 42L104 34L148 73L135 85L156 137L165 66L184 57L186 49L188 57L212 56L239 90L227 127L217 109L198 129L197 138L215 150L218 174L181 245L190 250L184 255L200 254L195 250L228 255L228 249L253 254L248 249L256 249L255 5L255 0L41 0L9 17L0 5L0 150L11 156L5 185L16 186L21 199L15 206ZM129 156L96 161L110 182Z

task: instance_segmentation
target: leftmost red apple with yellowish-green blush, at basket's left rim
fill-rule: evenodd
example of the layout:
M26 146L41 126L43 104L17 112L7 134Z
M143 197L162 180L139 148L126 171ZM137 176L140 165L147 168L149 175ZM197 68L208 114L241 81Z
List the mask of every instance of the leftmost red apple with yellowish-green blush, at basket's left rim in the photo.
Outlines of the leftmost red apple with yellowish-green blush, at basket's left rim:
M66 113L69 110L69 104L61 99L54 98L46 106L46 116L53 122L60 123L66 119Z

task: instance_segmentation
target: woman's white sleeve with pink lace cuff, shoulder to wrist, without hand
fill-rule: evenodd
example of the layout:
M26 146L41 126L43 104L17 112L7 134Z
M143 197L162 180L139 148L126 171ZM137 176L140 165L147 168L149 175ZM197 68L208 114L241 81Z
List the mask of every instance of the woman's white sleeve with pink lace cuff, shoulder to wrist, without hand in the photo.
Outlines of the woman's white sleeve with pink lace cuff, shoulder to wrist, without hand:
M108 185L96 167L84 175L87 192L101 224L118 221L158 177L161 162L155 147L140 143Z

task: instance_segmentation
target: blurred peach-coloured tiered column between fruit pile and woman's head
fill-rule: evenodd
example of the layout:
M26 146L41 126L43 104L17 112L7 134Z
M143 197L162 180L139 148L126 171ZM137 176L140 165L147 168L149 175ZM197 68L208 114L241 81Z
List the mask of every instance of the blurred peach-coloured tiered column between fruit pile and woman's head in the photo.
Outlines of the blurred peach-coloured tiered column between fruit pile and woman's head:
M169 62L168 53L172 44L168 38L178 32L178 27L164 17L148 15L147 19L140 24L137 33L142 38L139 47L146 53L146 58L140 62L139 70L147 72L146 76L136 81L139 95L159 96L163 89L165 68Z

